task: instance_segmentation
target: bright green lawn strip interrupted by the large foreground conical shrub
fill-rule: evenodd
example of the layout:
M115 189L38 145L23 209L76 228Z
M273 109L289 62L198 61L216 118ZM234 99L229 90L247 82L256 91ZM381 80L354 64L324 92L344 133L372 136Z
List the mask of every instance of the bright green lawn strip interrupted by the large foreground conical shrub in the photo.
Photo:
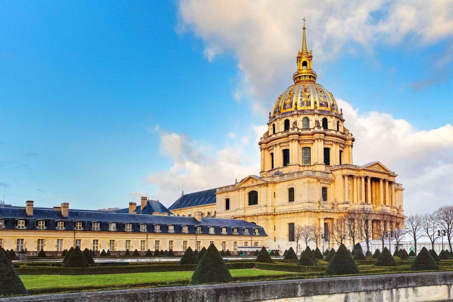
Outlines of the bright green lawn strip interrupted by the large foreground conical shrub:
M231 269L231 276L272 276L282 274L293 274L291 272L280 272L270 270L260 270L253 268ZM155 272L155 273L122 273L122 274L103 274L103 275L21 275L27 289L42 288L70 288L80 286L111 286L114 284L131 284L143 282L168 282L174 280L189 280L192 271L185 272Z

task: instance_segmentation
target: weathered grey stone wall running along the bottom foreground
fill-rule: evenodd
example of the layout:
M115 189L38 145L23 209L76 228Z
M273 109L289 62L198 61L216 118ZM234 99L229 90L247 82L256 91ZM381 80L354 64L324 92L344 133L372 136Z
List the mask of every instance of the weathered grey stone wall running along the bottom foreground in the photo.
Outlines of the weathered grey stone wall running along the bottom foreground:
M0 302L453 301L453 272L213 284L0 298Z

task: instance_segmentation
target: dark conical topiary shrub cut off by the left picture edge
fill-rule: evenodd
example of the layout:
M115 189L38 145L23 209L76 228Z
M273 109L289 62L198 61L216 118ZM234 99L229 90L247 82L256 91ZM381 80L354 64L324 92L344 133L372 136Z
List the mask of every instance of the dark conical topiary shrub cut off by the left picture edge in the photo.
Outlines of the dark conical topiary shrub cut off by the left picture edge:
M20 280L13 264L0 249L0 296L26 295L24 283Z

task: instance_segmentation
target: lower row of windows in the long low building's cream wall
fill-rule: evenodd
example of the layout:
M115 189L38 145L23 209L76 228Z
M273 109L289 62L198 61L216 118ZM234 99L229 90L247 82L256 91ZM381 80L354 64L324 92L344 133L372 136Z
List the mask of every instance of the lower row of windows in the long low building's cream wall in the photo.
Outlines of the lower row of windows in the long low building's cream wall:
M125 249L130 250L131 249L131 240L125 240ZM209 244L214 243L214 241L210 241ZM233 250L237 250L237 241L233 241ZM248 241L244 241L244 246L248 246ZM0 248L3 245L3 239L0 239ZM75 240L75 245L78 246L79 248L82 248L82 240L81 239L76 239ZM169 249L173 249L174 247L174 241L169 240ZM258 246L258 241L255 241L253 243L253 246ZM16 240L16 251L20 251L24 249L24 239L17 239ZM182 244L183 251L185 251L188 248L188 240L183 240ZM197 250L201 250L201 241L197 241L195 244L195 248ZM38 239L37 244L36 244L36 250L40 251L41 249L44 249L44 239ZM99 246L99 240L98 239L93 239L92 240L92 250L93 251L98 251L100 249ZM111 251L116 250L116 245L115 245L115 240L109 240L109 245L108 249ZM146 240L140 240L140 251L146 251L148 249L146 245ZM222 249L226 250L226 241L222 241ZM160 240L154 240L154 251L160 250ZM57 251L61 252L63 251L63 239L57 239Z

